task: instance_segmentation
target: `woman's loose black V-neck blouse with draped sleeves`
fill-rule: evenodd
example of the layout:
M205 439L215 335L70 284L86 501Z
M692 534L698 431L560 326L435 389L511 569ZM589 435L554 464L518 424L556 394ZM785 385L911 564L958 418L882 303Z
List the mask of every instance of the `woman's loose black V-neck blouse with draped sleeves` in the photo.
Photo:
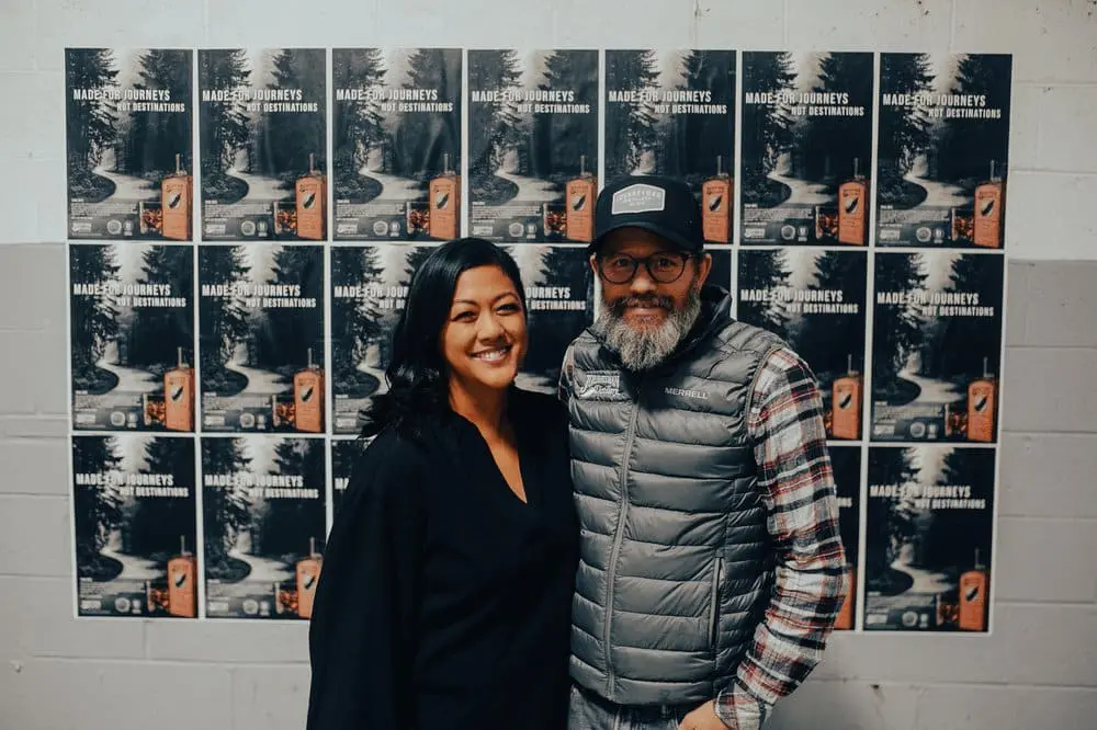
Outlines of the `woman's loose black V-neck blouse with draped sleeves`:
M559 730L578 562L566 415L512 389L525 486L460 415L352 470L309 628L307 730Z

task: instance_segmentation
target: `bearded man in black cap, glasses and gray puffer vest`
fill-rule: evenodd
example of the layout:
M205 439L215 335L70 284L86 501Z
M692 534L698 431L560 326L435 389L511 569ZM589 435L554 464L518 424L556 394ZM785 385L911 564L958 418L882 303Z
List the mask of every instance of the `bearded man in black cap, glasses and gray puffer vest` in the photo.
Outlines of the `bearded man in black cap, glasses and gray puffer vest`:
M848 589L814 375L731 318L703 243L685 184L598 197L601 312L559 383L583 527L572 730L755 730Z

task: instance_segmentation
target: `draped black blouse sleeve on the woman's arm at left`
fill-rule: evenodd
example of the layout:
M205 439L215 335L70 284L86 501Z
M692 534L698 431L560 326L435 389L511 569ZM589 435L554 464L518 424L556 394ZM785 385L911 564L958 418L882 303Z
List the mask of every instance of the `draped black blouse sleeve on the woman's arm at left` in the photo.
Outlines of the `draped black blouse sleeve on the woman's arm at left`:
M351 470L309 624L306 730L415 726L426 454L391 432Z

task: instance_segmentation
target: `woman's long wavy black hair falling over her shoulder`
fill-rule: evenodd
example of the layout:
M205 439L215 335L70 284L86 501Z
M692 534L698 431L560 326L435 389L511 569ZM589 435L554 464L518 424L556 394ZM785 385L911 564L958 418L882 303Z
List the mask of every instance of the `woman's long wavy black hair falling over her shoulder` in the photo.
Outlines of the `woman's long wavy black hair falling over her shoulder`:
M482 238L459 238L436 249L411 276L404 310L392 334L392 361L385 369L388 391L375 396L365 410L362 435L386 427L418 436L422 417L450 408L450 389L439 339L450 317L457 277L477 266L499 266L510 277L522 301L525 289L518 264L509 253Z

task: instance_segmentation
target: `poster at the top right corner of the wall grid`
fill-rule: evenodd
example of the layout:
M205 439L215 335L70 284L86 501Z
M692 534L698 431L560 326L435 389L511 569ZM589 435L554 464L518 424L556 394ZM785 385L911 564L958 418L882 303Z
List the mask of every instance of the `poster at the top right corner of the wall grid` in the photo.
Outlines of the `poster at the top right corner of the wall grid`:
M878 246L1005 248L1013 57L880 57Z

